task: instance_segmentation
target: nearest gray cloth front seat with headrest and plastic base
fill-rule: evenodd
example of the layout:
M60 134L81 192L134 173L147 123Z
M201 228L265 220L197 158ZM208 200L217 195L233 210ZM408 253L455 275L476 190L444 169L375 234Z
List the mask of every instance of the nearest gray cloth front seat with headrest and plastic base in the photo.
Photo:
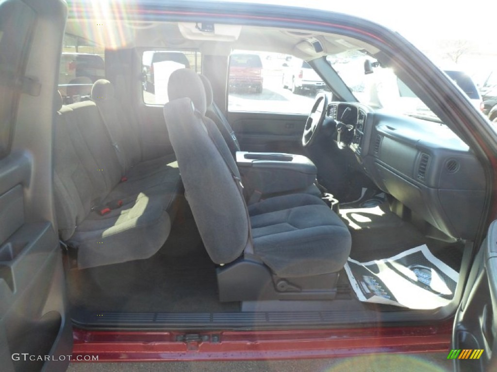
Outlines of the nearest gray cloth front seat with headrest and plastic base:
M336 293L350 252L345 224L318 197L277 196L247 207L240 173L192 70L174 71L164 106L193 217L218 268L221 301L321 300Z

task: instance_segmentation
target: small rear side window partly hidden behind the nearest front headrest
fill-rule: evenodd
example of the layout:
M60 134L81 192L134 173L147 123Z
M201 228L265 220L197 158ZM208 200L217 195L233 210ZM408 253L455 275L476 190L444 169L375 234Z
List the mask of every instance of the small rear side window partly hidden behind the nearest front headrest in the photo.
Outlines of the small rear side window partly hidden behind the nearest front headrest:
M143 102L164 105L171 73L179 68L202 72L202 56L198 51L146 51L142 56Z

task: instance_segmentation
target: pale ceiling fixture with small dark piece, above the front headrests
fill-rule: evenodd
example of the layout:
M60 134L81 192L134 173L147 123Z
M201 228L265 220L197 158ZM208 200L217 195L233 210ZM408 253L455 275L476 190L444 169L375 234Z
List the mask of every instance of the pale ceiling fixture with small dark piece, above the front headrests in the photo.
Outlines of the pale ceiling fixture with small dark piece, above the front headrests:
M236 41L242 26L210 22L179 22L179 31L188 40Z

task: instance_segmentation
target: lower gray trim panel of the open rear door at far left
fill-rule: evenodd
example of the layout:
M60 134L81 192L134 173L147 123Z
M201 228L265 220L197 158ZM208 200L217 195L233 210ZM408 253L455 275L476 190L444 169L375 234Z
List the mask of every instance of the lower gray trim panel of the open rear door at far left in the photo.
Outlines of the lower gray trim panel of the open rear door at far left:
M72 351L57 234L49 221L25 214L31 167L25 154L0 161L0 363L3 371L63 371L66 363L44 366L23 355Z

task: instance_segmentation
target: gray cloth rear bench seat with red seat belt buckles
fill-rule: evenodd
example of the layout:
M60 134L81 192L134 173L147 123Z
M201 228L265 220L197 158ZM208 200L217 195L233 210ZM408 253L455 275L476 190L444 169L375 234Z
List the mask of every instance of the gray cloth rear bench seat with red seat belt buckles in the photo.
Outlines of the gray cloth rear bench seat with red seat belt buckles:
M63 106L60 98L56 111L57 221L61 239L77 248L78 267L152 256L166 242L182 191L176 163L142 162L137 130L94 102Z

